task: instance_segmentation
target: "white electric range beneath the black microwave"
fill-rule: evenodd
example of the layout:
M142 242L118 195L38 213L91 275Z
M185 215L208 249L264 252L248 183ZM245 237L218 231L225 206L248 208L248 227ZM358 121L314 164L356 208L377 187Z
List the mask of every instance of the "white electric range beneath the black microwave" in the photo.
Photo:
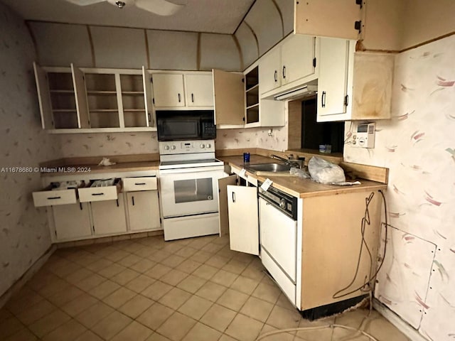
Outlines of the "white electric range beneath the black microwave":
M159 153L164 240L219 234L218 179L225 172L215 141L161 141Z

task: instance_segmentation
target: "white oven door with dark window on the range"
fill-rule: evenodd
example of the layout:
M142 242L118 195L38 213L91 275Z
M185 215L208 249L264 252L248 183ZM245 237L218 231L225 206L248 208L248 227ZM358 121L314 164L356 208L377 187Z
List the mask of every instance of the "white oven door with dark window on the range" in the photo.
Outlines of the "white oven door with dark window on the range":
M163 217L218 212L218 179L223 166L161 170Z

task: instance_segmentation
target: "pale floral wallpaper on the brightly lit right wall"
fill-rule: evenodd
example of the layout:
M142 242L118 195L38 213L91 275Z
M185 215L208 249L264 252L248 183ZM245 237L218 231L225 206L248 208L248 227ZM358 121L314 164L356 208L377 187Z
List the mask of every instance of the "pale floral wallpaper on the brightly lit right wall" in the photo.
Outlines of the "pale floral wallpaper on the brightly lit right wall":
M346 131L353 130L346 123ZM390 168L375 296L428 340L455 337L455 36L397 55L392 119L346 161Z

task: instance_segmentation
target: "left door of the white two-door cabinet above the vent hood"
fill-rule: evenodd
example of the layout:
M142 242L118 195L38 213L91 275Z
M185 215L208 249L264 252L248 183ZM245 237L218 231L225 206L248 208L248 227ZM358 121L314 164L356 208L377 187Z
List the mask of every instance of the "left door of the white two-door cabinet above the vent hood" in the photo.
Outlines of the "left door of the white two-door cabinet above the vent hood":
M281 53L273 48L259 60L259 91L261 94L274 90L281 85Z

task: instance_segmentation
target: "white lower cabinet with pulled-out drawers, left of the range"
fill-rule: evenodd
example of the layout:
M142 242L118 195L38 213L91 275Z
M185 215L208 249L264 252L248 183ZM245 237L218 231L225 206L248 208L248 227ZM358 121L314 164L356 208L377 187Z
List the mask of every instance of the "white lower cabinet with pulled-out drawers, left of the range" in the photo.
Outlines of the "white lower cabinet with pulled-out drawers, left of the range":
M110 178L113 185L92 187ZM48 176L43 188L33 203L46 207L53 242L161 229L156 171Z

